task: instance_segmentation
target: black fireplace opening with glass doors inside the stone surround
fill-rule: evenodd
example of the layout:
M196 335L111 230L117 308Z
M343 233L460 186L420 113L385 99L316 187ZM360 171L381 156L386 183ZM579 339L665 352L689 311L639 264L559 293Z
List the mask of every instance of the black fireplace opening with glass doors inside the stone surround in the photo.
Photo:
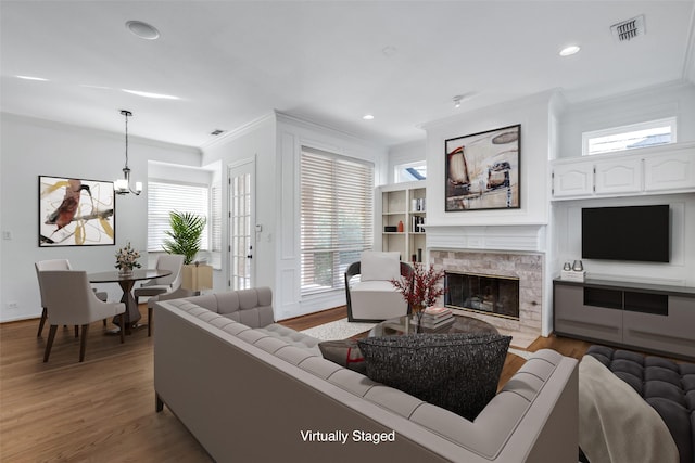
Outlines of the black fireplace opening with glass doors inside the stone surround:
M446 307L519 319L518 278L447 271L444 287Z

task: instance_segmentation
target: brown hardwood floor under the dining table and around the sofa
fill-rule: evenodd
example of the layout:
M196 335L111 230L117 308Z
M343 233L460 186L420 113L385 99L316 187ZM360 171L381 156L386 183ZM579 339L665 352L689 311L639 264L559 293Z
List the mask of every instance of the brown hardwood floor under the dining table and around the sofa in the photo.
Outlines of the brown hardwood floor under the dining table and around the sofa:
M140 306L143 321L147 309ZM296 330L345 317L337 308L283 322ZM59 329L48 363L38 320L0 324L0 461L208 462L202 447L165 407L154 411L153 338L147 329L126 336L90 326L87 355L78 363L79 342ZM181 339L182 343L186 339ZM541 338L529 350L551 347L581 358L586 343ZM523 359L509 355L504 384Z

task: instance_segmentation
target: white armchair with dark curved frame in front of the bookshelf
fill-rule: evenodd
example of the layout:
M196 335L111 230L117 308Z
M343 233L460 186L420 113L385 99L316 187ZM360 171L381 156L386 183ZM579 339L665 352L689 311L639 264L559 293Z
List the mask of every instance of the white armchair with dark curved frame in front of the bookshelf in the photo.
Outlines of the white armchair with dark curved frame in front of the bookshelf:
M345 272L348 320L377 322L410 313L412 308L391 280L410 276L413 268L400 253L365 250ZM359 281L353 280L359 275Z

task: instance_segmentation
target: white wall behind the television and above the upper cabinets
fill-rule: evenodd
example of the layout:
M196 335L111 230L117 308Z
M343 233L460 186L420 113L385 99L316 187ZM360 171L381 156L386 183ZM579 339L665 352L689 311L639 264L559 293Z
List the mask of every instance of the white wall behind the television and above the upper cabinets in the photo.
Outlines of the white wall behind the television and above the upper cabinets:
M695 141L695 86L673 82L611 98L567 104L559 116L558 157L581 156L583 131L677 116L678 141ZM640 156L640 151L634 150ZM553 273L564 261L581 258L581 208L668 204L671 208L669 263L587 260L595 279L695 286L695 194L557 201L553 203Z

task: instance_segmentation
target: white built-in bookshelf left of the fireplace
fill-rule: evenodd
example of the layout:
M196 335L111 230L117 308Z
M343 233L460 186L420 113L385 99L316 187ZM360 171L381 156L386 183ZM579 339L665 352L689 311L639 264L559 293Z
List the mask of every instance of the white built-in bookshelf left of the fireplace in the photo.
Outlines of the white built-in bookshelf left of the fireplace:
M377 189L377 229L381 250L401 253L401 260L421 262L426 256L427 190L422 181ZM379 234L377 235L379 236ZM378 243L377 243L378 244Z

